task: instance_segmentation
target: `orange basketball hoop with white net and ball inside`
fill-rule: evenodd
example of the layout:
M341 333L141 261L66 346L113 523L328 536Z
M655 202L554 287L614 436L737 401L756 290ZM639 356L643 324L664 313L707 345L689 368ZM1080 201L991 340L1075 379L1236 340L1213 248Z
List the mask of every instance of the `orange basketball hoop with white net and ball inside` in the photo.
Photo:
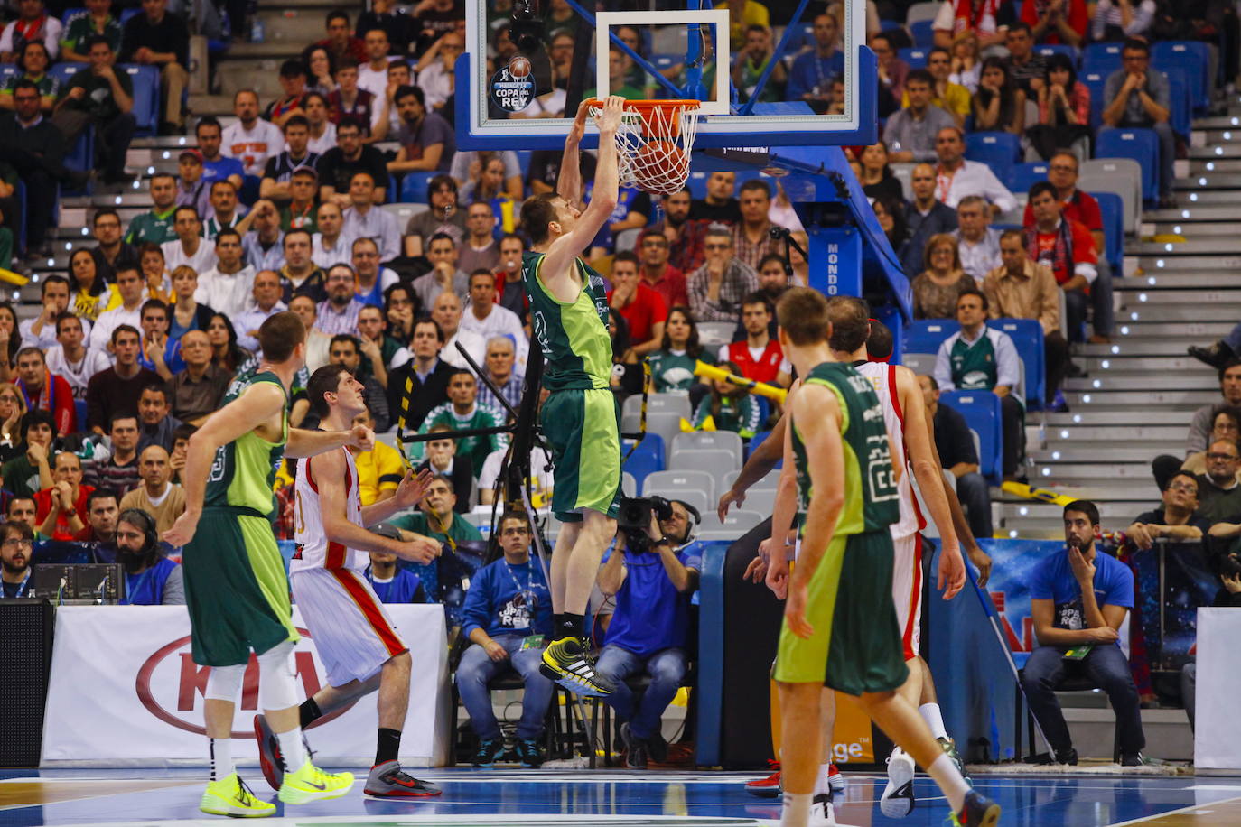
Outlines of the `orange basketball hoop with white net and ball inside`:
M603 102L588 100L598 118ZM690 153L697 134L699 100L625 100L617 129L620 185L654 195L673 195L690 177Z

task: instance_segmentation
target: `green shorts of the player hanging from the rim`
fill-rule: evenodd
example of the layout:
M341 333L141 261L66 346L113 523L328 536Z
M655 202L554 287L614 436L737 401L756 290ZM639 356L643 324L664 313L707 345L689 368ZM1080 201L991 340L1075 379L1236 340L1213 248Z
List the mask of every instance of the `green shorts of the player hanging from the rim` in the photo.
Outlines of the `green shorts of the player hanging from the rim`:
M561 522L620 506L620 407L607 388L552 391L540 414L556 464L551 510Z

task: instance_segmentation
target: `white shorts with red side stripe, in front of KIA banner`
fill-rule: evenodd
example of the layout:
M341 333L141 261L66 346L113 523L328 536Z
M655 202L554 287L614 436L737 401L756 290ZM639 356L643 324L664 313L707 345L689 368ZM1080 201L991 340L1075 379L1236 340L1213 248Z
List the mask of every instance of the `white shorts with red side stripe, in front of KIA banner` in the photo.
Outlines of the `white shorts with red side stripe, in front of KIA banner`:
M289 578L328 682L365 681L408 651L371 584L352 569L303 569Z

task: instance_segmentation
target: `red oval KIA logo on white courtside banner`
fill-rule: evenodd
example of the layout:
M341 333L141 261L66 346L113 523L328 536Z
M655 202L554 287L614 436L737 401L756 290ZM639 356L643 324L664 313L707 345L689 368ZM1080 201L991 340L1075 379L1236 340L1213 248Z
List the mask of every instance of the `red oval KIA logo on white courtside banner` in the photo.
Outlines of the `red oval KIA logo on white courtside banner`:
M298 629L298 632L303 640L310 639L310 632L305 629ZM177 677L175 679L161 681L160 683L163 686L175 686L175 697L156 698L151 691L151 678L159 672L172 670L176 671ZM293 670L302 681L307 697L313 697L320 687L314 652L310 650L294 650ZM204 725L189 718L192 715L201 722L201 713L195 713L199 709L200 699L206 693L210 674L210 666L199 666L194 662L194 656L190 653L190 636L186 635L163 646L146 658L141 668L138 670L134 691L138 693L138 699L141 704L146 707L146 710L165 724L195 733L196 735L206 735L207 730ZM324 715L310 724L310 728L335 720L349 712L354 703L356 702L351 702L341 709ZM242 679L241 710L243 713L258 710L258 660L253 653L249 656L249 662L246 665L246 676ZM235 732L232 736L253 739L254 732L252 729Z

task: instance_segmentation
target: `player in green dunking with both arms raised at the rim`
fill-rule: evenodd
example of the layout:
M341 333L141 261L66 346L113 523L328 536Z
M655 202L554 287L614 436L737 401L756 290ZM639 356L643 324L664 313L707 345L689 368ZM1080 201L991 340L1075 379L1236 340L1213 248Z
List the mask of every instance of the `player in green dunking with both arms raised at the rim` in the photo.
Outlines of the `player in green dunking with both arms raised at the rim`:
M582 105L565 139L556 195L535 196L521 207L521 224L534 243L534 252L522 255L521 280L546 360L542 387L551 393L540 423L555 462L551 507L562 523L551 562L555 631L544 651L544 672L586 696L612 691L594 671L585 616L603 549L616 534L620 428L609 389L612 340L603 279L580 257L616 208L622 104L622 98L609 97L596 118L599 157L589 206L578 206L578 144L587 114Z

